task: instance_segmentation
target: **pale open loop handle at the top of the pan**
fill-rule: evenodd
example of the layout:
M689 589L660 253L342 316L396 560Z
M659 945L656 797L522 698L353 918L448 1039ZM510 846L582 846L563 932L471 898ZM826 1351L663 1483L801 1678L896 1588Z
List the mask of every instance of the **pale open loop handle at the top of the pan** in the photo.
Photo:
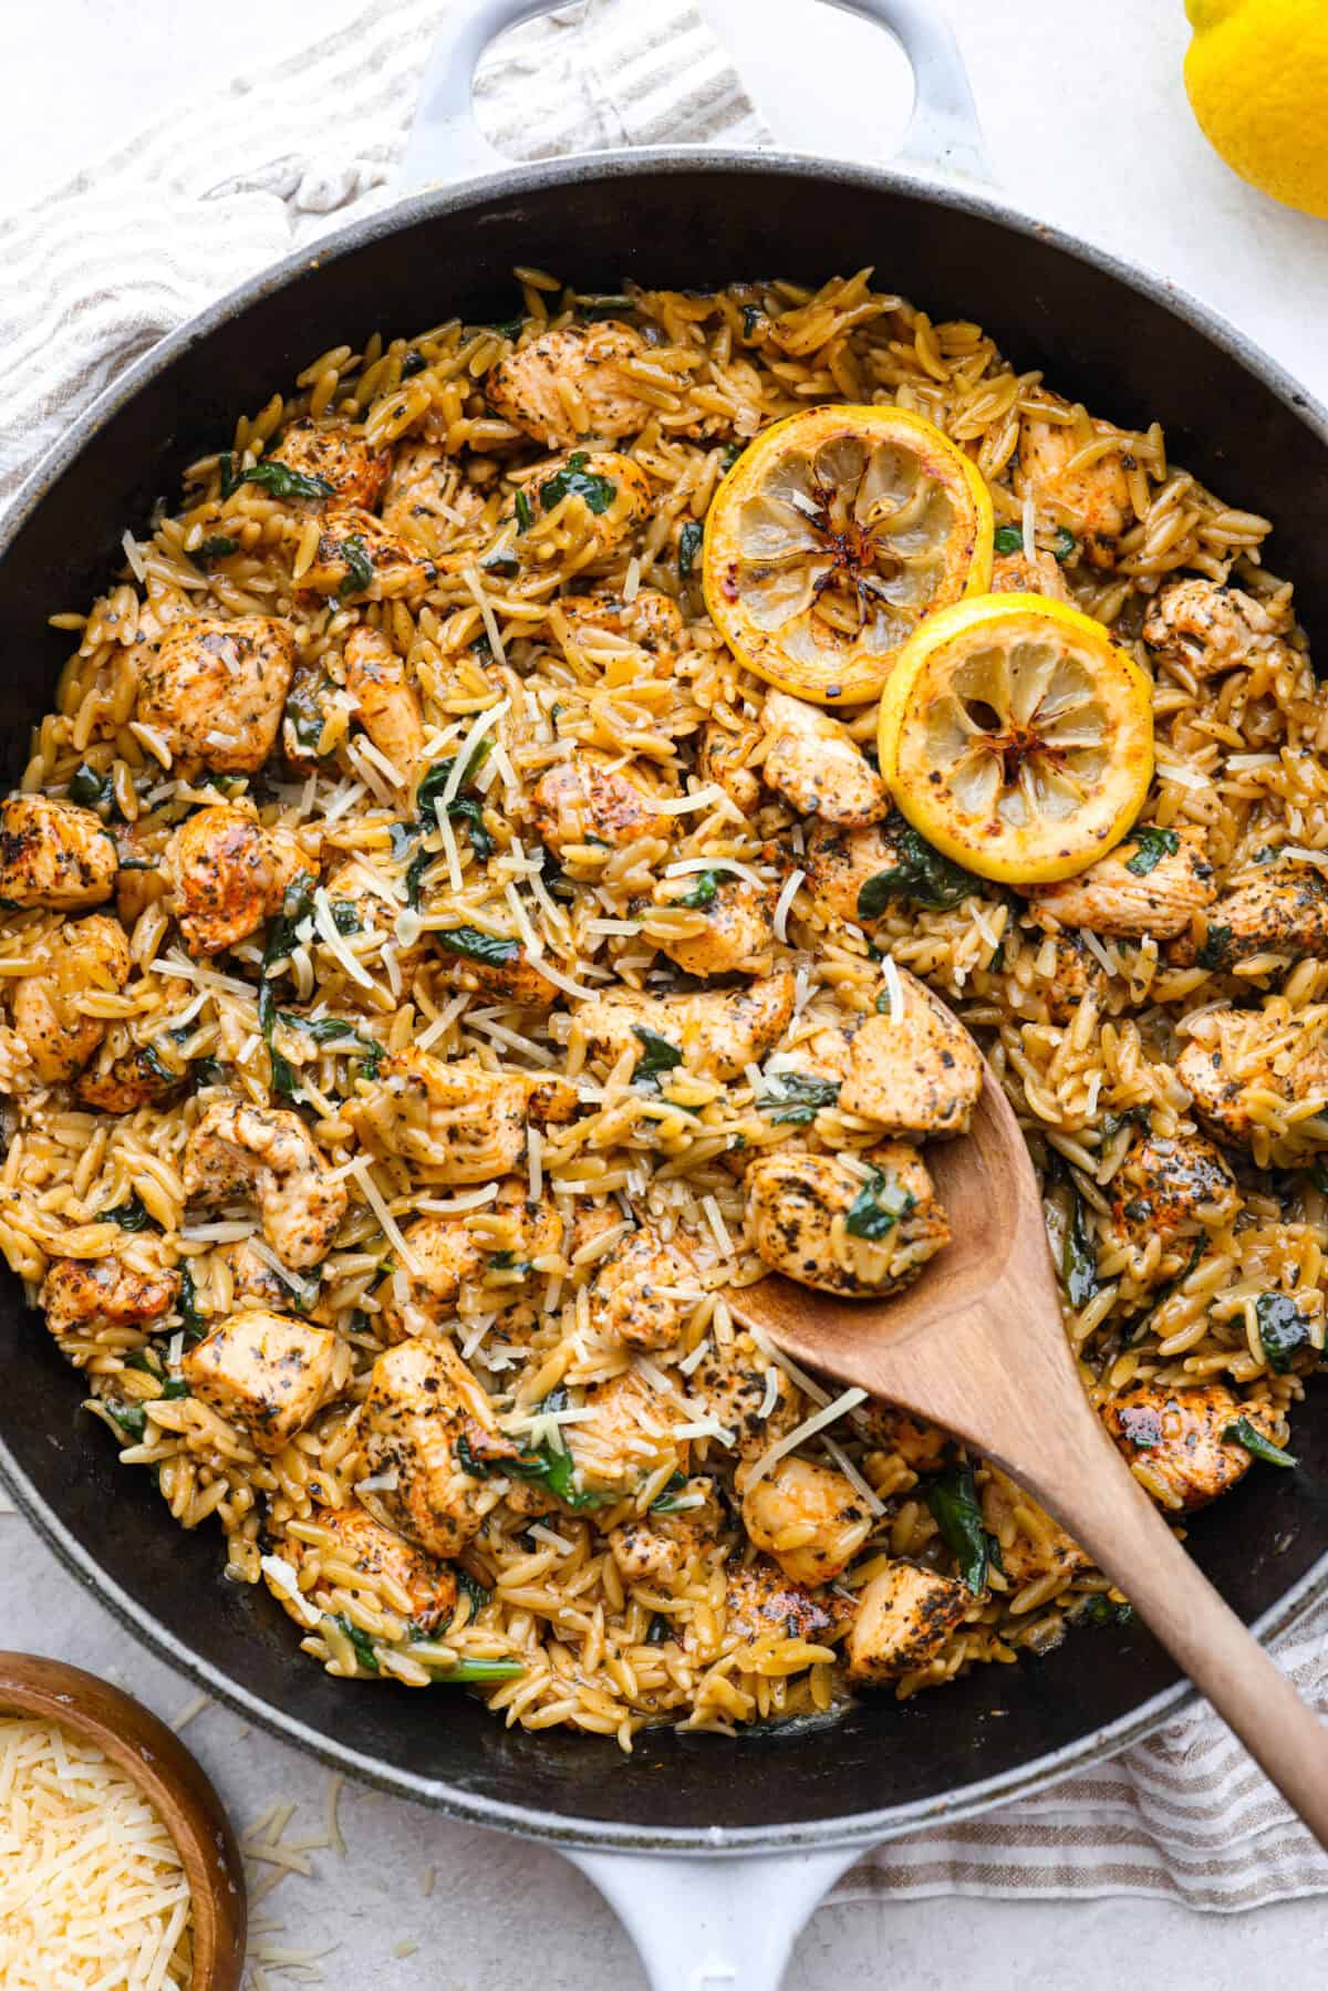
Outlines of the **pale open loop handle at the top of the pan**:
M400 181L408 191L450 185L510 161L490 145L474 115L472 88L480 56L496 36L557 0L456 0L448 32L428 58L414 123L406 137ZM892 34L914 72L914 113L898 159L962 179L990 179L982 129L968 88L964 58L950 24L932 0L824 0L862 14Z

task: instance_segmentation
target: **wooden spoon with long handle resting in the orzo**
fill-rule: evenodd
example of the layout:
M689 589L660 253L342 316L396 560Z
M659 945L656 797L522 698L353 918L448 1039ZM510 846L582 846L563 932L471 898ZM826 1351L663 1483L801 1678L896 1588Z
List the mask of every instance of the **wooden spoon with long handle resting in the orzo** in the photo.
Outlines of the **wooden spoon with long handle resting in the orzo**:
M1041 1195L992 1067L968 1139L928 1147L952 1242L896 1300L786 1278L729 1294L798 1362L946 1426L1069 1529L1328 1848L1328 1728L1189 1559L1089 1406Z

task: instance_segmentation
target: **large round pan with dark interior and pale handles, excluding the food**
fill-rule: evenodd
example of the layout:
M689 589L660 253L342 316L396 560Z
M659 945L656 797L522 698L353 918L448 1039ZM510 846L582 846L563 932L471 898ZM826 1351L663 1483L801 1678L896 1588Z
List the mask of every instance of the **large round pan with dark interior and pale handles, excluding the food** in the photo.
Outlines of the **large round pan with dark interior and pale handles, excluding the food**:
M84 416L30 482L0 548L0 723L8 774L50 705L68 637L56 607L96 595L181 468L229 436L311 352L460 313L500 319L516 263L587 289L625 277L713 287L820 281L874 263L932 315L972 317L1019 368L1119 422L1161 418L1171 454L1276 520L1272 563L1328 641L1328 418L1236 331L1171 285L1013 213L974 179L978 131L948 32L918 0L854 0L900 36L918 76L910 167L780 153L641 151L488 171L418 193L245 285L165 338ZM412 167L456 181L492 165L470 76L538 0L466 0L434 58ZM940 171L938 171L940 169ZM854 1848L956 1820L1147 1734L1187 1700L1141 1627L1083 1631L1041 1660L986 1666L904 1706L864 1698L830 1726L725 1740L647 1732L635 1754L575 1734L508 1732L464 1694L346 1690L297 1651L263 1589L227 1585L211 1529L183 1535L143 1473L121 1471L80 1414L80 1378L16 1280L0 1292L0 1467L62 1561L141 1639L255 1722L323 1760L480 1826L573 1852L647 1951L657 1987L725 1951L763 1991ZM1300 1469L1254 1471L1189 1543L1262 1637L1328 1581L1328 1430L1296 1426ZM78 1657L78 1655L62 1655ZM605 1854L767 1854L731 1862Z

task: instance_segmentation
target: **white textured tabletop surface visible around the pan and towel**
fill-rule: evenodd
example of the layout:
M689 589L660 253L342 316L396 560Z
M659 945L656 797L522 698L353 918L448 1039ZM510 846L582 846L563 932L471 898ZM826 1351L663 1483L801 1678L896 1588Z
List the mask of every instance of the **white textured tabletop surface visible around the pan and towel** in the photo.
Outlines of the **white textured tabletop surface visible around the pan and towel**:
M354 4L325 0L321 24L336 26ZM776 139L858 157L888 151L906 117L908 80L874 30L810 0L703 4ZM1195 131L1181 92L1179 0L1171 8L1157 0L1109 8L1097 0L950 0L948 12L1003 187L1045 219L1163 269L1328 398L1320 336L1328 235L1230 179ZM209 76L297 52L307 20L271 0L227 0L221 12L169 0L48 0L42 10L4 10L0 64L20 88L6 94L0 125L0 205L26 203ZM804 30L796 62L773 22ZM0 1601L6 1643L117 1670L165 1714L193 1698L50 1565L14 1517L0 1521ZM243 1736L217 1710L199 1718L189 1740L241 1826L283 1788L303 1798L291 1830L317 1824L325 1776L291 1750L257 1732ZM350 1872L317 1891L289 1880L271 1901L293 1941L340 1943L329 1979L488 1991L538 1945L552 1991L639 1985L625 1937L555 1856L370 1794L346 1792L342 1826ZM315 1862L332 1874L329 1854ZM424 1899L430 1866L438 1883ZM420 1947L394 1957L398 1943ZM1115 1985L1123 1955L1141 1953L1151 1977L1161 1967L1177 1985L1300 1985L1322 1979L1328 1929L1316 1903L1224 1921L1133 1899L850 1903L816 1915L790 1985L866 1987L888 1961L890 1977L908 1985L1001 1991L1073 1981L1095 1991Z

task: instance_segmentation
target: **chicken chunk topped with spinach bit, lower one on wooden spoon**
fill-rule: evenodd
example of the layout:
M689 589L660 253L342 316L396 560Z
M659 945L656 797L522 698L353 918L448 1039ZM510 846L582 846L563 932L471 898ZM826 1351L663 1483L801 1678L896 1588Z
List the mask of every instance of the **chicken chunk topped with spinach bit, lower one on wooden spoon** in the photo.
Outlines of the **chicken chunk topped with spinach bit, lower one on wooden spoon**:
M844 1298L912 1286L950 1242L932 1177L904 1141L860 1157L773 1149L747 1171L747 1234L775 1272Z

